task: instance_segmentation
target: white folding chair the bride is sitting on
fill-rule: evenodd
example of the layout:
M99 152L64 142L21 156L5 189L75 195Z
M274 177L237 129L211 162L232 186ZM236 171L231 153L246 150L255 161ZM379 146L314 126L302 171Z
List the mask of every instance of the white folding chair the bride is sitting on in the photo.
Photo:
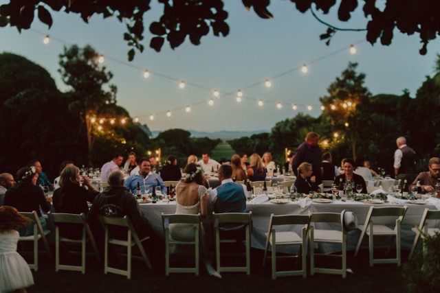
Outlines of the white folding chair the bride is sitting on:
M165 234L165 274L170 272L195 272L199 275L199 251L200 251L200 213L198 215L180 215L162 213L162 227ZM180 241L170 236L170 224L191 224L194 226L194 240ZM170 245L194 245L195 246L195 267L194 268L171 268L170 267Z

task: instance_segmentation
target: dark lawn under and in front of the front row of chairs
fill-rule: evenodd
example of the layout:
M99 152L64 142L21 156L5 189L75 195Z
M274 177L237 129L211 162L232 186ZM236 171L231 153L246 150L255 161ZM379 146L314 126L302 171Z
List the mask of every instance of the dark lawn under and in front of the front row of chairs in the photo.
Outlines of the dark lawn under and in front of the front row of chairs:
M408 252L404 253L404 259ZM104 274L102 263L87 258L87 271L55 272L54 261L41 258L41 269L33 272L35 285L28 292L403 292L404 279L401 268L395 264L369 267L368 250L362 250L358 257L348 253L347 267L353 270L347 279L338 275L315 274L302 277L278 277L271 279L270 261L262 268L263 250L252 248L251 274L223 272L223 279L209 277L201 266L199 277L195 274L164 274L164 258L159 253L148 252L153 269L148 270L142 261L133 261L132 279L116 274ZM328 263L327 260L320 260ZM285 260L292 261L292 259ZM308 260L309 261L309 260ZM335 259L334 263L339 263ZM333 262L333 260L331 261ZM289 263L290 264L290 263ZM286 266L286 263L281 263ZM309 262L307 263L309 266Z

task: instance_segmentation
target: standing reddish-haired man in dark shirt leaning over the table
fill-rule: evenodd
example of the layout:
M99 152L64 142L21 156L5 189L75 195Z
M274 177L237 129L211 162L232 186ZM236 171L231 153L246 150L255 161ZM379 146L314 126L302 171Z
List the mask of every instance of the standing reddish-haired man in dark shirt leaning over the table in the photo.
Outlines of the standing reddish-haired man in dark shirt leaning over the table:
M292 169L298 177L298 167L303 162L311 163L313 170L312 176L316 177L316 184L322 183L321 178L321 150L318 146L319 134L309 132L305 137L305 142L301 143L296 149L296 154L292 160Z

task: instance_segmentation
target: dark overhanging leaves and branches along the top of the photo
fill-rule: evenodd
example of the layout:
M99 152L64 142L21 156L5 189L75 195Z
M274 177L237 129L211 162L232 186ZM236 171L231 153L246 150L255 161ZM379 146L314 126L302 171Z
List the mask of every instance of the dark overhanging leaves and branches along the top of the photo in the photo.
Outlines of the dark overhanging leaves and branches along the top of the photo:
M34 21L35 13L39 20L49 28L52 27L52 11L78 14L88 23L91 16L100 14L104 18L116 17L126 25L124 40L131 47L128 55L133 60L135 49L142 52L144 45L144 27L148 26L152 34L150 47L160 51L165 41L171 48L179 47L188 37L194 45L199 45L201 38L211 31L214 36L227 36L229 26L226 23L228 12L223 9L223 0L157 0L164 8L162 16L151 23L144 23L146 12L151 9L151 0L10 0L10 3L0 6L0 27L6 25L17 27L19 31L28 30ZM268 10L270 0L242 0L247 10L251 8L263 19L271 19L272 13ZM437 0L406 0L406 1L360 1L360 0L291 0L296 9L302 13L311 10L320 10L328 14L333 7L338 8L338 19L349 21L351 13L364 3L362 10L368 23L366 40L372 45L380 39L382 45L391 45L393 32L397 28L401 33L418 34L423 46L420 54L424 55L430 40L434 40L440 32L440 15L437 9ZM322 22L320 19L318 21ZM323 22L322 22L323 23ZM327 24L328 29L320 38L329 40L340 29Z

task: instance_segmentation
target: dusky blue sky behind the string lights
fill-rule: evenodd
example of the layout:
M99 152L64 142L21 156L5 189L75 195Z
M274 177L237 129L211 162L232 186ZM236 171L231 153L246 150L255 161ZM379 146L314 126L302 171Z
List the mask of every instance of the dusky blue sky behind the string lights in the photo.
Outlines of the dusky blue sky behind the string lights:
M0 0L0 4L8 1ZM230 34L210 35L195 46L187 39L175 50L164 44L157 53L149 48L148 25L159 19L162 5L153 1L153 10L146 14L145 50L136 51L132 62L127 60L129 47L123 40L125 25L115 18L92 16L89 24L76 14L53 12L50 30L35 17L31 30L19 34L15 27L0 28L0 52L19 54L47 69L58 89L67 87L58 73L58 55L63 46L91 45L104 56L104 65L114 75L111 83L118 87L118 105L131 117L139 117L151 130L183 128L187 130L270 130L278 121L292 118L299 112L320 115L319 97L327 95L327 87L349 62L358 62L358 72L366 74L365 86L373 93L401 95L404 89L412 97L433 75L440 40L428 45L428 54L421 56L418 36L406 36L395 30L391 46L366 42L366 32L337 32L330 46L319 39L327 30L310 12L301 14L289 1L272 1L269 10L274 19L260 19L246 11L241 1L225 1ZM338 27L362 28L366 19L362 9L349 23L336 19L336 8L322 19ZM45 35L51 40L43 44ZM357 53L349 52L355 44ZM309 72L301 72L307 64ZM143 78L144 70L151 76ZM281 73L288 72L278 78ZM163 77L165 76L165 78ZM265 86L270 79L272 87ZM179 89L178 81L186 82ZM217 89L220 97L214 97ZM236 102L236 91L243 99ZM214 99L214 104L208 104ZM263 101L263 106L257 104ZM281 102L283 107L276 108ZM298 106L292 109L292 104ZM191 110L186 112L189 105ZM306 106L312 106L308 111ZM167 111L170 117L167 117ZM154 119L150 119L150 115Z

